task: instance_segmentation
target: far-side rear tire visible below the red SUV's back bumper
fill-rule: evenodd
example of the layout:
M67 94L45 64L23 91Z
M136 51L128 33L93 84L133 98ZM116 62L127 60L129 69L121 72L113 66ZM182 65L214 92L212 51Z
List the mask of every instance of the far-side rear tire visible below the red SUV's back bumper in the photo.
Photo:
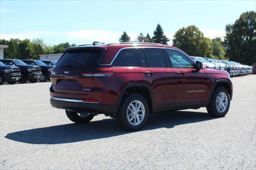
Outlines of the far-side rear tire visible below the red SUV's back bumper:
M84 115L84 117L82 117L78 115L77 112L67 111L67 110L66 110L66 115L68 119L74 123L88 123L94 117L94 115Z

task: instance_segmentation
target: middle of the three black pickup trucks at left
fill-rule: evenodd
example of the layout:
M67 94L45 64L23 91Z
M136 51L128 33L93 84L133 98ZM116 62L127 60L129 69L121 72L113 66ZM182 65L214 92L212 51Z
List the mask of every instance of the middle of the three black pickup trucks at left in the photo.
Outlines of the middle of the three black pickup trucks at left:
M37 79L42 75L41 67L37 65L27 65L19 59L0 59L6 65L15 65L20 67L21 77L19 83L26 83L29 80L31 83L36 83Z

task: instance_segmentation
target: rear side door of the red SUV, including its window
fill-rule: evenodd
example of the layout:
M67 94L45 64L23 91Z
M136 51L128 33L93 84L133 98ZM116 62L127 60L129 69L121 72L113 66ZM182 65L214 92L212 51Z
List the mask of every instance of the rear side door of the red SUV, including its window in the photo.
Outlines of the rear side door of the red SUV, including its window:
M153 105L173 107L176 96L176 75L170 68L162 48L138 48L144 83L151 88Z

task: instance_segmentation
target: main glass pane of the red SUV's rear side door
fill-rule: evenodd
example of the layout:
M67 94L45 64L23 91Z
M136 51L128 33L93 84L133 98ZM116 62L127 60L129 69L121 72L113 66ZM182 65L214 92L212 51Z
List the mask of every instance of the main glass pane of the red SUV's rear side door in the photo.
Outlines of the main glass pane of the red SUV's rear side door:
M160 48L144 48L148 67L167 67L164 53Z

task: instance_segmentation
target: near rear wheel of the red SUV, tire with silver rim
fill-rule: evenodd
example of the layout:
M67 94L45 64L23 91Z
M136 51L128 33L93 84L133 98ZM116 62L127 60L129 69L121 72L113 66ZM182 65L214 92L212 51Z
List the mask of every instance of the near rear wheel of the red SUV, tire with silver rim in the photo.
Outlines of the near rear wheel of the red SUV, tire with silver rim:
M136 102L138 104L136 104ZM139 110L144 110L144 116L143 112L137 112L136 109L129 109L128 111L128 107L132 108L134 106ZM118 109L118 113L115 115L115 118L116 122L122 129L127 131L135 131L139 130L146 124L146 122L148 121L148 114L149 109L146 99L142 95L131 94L122 100L122 103ZM130 118L130 121L128 120L128 117ZM136 125L136 122L138 125Z

